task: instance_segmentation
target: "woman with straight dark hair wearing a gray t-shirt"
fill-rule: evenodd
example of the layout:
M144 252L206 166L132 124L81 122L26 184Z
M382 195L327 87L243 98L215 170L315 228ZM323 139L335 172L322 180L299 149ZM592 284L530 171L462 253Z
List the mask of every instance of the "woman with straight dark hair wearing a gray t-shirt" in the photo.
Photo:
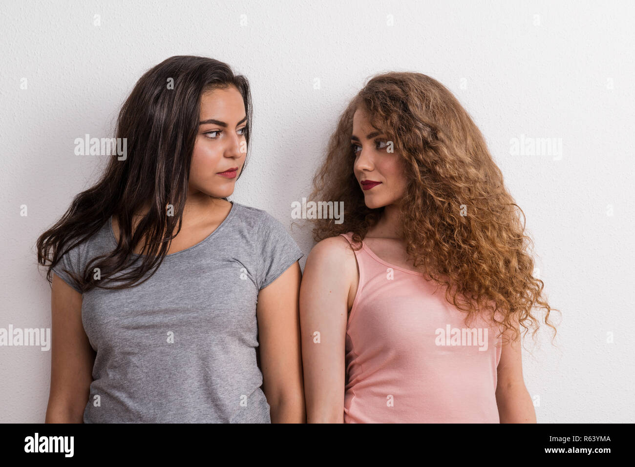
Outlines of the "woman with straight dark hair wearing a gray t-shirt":
M250 135L248 81L225 63L173 56L139 79L117 121L126 154L37 241L46 422L304 421L302 251L227 201Z

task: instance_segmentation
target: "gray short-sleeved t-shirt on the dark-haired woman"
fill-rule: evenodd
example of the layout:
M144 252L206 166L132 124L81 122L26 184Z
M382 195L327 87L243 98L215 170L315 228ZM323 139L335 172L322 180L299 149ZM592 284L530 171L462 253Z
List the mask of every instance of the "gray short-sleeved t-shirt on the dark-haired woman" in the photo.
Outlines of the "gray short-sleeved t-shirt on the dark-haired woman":
M63 269L78 273L114 247L109 220L53 271L79 292ZM84 423L271 423L256 360L258 291L302 256L274 217L232 202L210 236L168 254L143 284L83 294L97 352Z

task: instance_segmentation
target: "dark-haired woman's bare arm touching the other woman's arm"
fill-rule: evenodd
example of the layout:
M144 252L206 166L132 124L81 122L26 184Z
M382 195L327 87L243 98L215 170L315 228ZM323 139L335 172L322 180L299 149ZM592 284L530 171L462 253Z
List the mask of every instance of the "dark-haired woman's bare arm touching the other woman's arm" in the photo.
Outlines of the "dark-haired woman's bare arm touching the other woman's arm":
M296 261L258 293L260 368L272 423L304 423L306 419L298 322L301 279Z

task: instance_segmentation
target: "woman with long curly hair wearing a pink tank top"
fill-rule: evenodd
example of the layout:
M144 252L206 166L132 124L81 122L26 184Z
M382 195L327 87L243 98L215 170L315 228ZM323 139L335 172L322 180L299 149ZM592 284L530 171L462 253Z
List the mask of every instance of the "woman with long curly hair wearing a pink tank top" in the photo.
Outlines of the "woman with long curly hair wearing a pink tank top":
M311 200L300 287L307 421L536 420L519 326L550 308L531 240L465 109L418 73L373 77L351 101ZM522 212L522 211L521 211Z

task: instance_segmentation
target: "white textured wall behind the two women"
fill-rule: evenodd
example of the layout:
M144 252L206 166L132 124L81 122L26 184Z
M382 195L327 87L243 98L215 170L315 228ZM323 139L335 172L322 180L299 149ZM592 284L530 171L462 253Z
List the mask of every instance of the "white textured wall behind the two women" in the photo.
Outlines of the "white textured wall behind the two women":
M633 422L634 12L627 1L3 0L0 327L50 327L34 243L103 162L74 155L74 138L107 135L153 65L206 55L250 79L253 152L233 199L286 224L364 79L417 71L485 134L563 311L558 348L541 333L523 357L538 421ZM511 155L521 135L561 138L562 153ZM309 232L293 236L308 254ZM0 421L43 421L49 382L50 352L0 347Z

